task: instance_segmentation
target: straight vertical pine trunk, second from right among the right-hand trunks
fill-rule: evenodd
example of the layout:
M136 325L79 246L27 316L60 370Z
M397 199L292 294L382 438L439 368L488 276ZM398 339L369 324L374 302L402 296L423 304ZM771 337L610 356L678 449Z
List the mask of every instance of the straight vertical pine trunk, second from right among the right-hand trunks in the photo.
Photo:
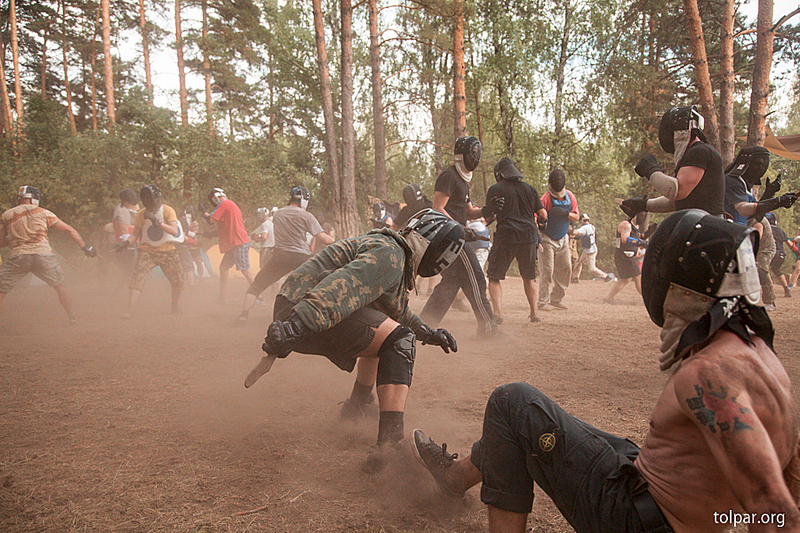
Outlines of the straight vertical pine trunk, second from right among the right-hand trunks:
M733 161L736 150L736 131L733 121L733 17L735 8L734 0L724 0L719 65L719 152L722 155L723 167L727 167Z

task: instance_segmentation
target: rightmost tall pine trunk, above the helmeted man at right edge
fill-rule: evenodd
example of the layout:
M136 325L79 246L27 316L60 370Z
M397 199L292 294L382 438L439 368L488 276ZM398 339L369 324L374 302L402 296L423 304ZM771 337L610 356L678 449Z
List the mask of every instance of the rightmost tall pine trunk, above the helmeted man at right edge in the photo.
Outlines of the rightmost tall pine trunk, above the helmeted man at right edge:
M753 85L750 93L750 116L747 122L747 146L764 146L767 136L767 98L769 74L772 71L772 45L775 30L772 27L772 0L758 0L756 21L756 60L753 67Z

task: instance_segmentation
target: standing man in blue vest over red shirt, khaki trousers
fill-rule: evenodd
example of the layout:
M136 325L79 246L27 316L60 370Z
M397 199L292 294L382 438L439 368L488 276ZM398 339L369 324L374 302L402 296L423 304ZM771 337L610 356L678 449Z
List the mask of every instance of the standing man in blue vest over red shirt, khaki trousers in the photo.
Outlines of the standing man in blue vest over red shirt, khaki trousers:
M547 226L542 231L542 260L539 272L539 310L563 310L561 303L572 279L572 256L569 249L569 225L580 217L578 200L567 190L567 177L561 169L550 172L547 192L542 195L547 211Z

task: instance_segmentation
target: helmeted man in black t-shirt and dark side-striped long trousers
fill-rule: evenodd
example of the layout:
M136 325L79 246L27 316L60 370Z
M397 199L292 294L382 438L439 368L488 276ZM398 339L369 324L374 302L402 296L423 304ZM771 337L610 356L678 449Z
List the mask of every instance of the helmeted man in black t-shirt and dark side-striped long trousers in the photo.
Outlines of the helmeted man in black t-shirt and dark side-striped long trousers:
M482 208L473 206L469 197L469 183L472 180L472 171L481 160L481 143L476 137L459 137L454 152L454 164L444 169L436 178L433 208L466 226L467 220L488 218L495 214L502 209L505 200L495 197L492 203ZM471 229L466 229L466 235L468 241L476 238ZM425 322L438 325L453 304L459 289L464 291L472 312L475 313L478 335L493 335L497 331L497 323L492 304L486 297L486 277L475 251L469 246L461 250L458 261L451 268L442 272L442 281L433 289L420 316Z

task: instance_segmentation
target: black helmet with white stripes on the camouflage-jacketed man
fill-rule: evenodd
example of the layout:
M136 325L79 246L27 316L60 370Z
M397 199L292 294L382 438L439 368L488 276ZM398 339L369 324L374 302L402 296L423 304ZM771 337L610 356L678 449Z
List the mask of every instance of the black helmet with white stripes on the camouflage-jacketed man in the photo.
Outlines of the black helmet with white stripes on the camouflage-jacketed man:
M423 209L408 221L403 235L416 232L428 241L417 274L430 278L453 264L464 248L464 226L437 211Z

